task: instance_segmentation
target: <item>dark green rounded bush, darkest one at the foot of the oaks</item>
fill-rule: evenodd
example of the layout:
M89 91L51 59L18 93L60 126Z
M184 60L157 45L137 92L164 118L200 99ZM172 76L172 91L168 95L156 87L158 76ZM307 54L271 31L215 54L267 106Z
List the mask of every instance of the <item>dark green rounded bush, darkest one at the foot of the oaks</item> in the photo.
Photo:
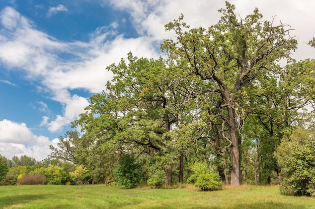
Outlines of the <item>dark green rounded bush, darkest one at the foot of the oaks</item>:
M123 155L123 158L118 161L114 170L115 180L126 188L133 188L140 182L140 165L135 162L131 155Z

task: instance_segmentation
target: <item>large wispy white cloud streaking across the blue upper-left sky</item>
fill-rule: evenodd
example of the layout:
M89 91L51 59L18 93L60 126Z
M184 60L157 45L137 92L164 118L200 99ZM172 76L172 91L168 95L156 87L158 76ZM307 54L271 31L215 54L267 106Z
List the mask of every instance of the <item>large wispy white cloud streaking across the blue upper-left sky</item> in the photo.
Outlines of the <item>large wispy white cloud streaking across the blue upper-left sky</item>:
M87 98L71 95L70 90L102 92L112 78L106 66L119 62L130 51L139 57L159 56L150 38L125 39L117 35L116 22L98 28L88 43L64 43L36 30L13 8L5 8L1 15L6 36L0 39L0 59L8 66L23 69L28 79L40 81L38 89L49 93L52 100L63 106L62 115L52 117L48 114L41 122L51 132L60 131L77 119L89 105ZM69 54L73 59L62 59L60 54ZM43 103L40 109L48 110Z

